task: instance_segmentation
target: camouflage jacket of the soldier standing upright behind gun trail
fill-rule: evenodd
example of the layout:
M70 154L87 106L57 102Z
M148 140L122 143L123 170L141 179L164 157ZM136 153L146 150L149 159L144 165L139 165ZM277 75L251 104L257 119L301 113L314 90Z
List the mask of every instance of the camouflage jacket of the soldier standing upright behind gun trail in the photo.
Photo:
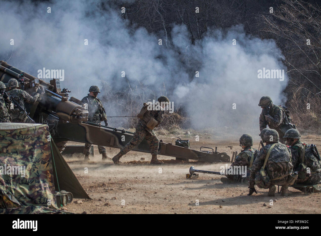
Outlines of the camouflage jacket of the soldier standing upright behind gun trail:
M89 122L100 124L101 121L107 120L105 108L97 97L88 94L88 96L82 99L82 102L88 103Z

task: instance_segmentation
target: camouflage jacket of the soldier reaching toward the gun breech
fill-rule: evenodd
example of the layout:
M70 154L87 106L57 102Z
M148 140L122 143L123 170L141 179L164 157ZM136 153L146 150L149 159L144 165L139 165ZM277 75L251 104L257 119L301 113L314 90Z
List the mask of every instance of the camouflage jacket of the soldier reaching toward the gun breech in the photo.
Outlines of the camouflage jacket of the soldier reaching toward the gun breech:
M12 89L7 92L7 94L8 96L11 96L12 99L17 101L23 109L26 109L25 102L35 103L39 98L38 93L36 93L34 96L31 96L29 93L21 89ZM9 114L11 115L13 122L18 122L26 119L26 113L24 111L21 111L16 106L14 106L13 109L9 109Z

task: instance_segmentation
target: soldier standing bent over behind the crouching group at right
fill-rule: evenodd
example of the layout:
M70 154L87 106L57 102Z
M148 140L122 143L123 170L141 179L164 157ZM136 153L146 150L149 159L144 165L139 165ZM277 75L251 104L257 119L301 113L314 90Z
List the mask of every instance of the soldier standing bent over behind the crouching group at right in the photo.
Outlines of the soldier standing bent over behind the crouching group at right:
M258 104L262 108L260 114L260 131L262 131L268 125L271 129L275 129L279 133L280 142L285 144L283 136L288 129L293 128L291 124L291 118L286 115L285 110L273 105L272 99L268 96L264 96L260 99Z

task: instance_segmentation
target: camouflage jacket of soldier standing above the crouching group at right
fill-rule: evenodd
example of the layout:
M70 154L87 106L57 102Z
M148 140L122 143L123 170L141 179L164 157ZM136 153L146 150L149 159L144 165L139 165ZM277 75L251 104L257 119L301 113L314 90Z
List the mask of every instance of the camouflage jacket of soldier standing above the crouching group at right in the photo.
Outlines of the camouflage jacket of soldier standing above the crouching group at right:
M266 128L268 125L271 129L278 128L281 124L286 123L286 113L282 107L273 105L268 115L263 114L263 110L260 114L260 131Z

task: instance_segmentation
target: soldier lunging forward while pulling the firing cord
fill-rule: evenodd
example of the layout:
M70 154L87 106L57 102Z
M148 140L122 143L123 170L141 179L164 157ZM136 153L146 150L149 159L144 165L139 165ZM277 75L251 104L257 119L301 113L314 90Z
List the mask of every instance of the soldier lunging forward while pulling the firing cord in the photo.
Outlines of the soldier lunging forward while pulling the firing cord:
M136 131L134 133L134 136L129 141L129 143L127 143L120 150L120 152L113 157L112 160L114 164L119 164L119 158L121 158L123 155L128 153L130 150L137 147L138 144L140 144L144 138L146 139L146 141L148 142L151 148L151 153L152 153L151 164L161 164L161 162L157 160L159 140L152 129L154 127L158 127L158 125L161 123L163 114L164 114L163 109L165 108L166 103L169 103L169 99L165 96L160 96L158 98L158 101L162 106L155 106L155 109L152 109L152 110L148 109L148 111L146 111L144 114L141 114L143 109L147 110L148 104L144 103L144 107L140 112L142 116L138 114L138 116L140 117L140 120L136 125Z

